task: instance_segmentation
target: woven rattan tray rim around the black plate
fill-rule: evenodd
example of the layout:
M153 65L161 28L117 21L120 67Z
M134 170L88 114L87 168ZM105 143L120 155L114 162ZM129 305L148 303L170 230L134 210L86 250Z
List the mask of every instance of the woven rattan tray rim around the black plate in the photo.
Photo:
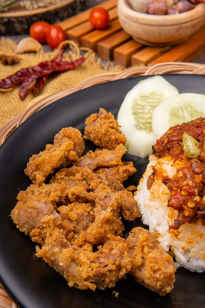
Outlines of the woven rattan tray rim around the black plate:
M166 63L156 64L151 67L131 67L122 72L106 73L88 78L73 88L57 92L55 94L41 95L33 99L32 104L30 104L29 107L21 115L11 119L9 122L4 124L0 128L0 146L3 144L6 138L17 127L19 127L19 125L21 125L24 121L26 121L30 116L32 116L35 112L39 111L45 106L58 100L59 98L77 92L79 90L83 90L91 86L109 81L124 79L128 77L135 77L135 76L162 75L162 74L205 75L205 64L166 62ZM0 285L0 308L17 308L17 306L13 303L12 299L8 296L5 290L3 290L1 285Z

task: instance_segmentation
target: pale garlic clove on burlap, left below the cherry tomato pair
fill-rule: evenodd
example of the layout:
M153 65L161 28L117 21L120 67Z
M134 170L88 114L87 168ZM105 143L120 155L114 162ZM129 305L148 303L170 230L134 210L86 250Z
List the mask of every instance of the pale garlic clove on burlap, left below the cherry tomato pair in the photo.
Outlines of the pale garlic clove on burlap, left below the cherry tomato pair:
M32 37L25 37L18 43L16 47L16 54L23 54L26 52L38 52L42 45Z

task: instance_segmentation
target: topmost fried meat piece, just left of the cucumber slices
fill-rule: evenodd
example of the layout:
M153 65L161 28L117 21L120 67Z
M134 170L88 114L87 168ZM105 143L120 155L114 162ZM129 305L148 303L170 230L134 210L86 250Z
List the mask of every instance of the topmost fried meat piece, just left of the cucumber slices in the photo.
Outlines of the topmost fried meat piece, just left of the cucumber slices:
M119 129L117 120L111 112L100 108L86 119L84 138L91 140L97 147L114 150L118 144L126 143L126 137Z

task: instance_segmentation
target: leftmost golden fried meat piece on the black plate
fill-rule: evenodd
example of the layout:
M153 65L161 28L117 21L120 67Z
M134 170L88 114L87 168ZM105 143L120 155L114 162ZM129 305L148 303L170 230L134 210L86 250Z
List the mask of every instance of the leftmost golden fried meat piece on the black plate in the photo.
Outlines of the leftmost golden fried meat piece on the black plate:
M63 198L65 187L63 185L30 185L26 191L17 195L18 203L11 211L11 218L17 228L29 234L34 242L42 244L45 233L42 218L51 216L56 224L60 216L56 211L56 203Z

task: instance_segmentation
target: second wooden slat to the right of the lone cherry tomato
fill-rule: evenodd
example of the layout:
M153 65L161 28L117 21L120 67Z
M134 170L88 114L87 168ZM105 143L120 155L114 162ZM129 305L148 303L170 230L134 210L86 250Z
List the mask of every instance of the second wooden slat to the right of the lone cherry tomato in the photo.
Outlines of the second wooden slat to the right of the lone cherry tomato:
M113 60L113 50L126 42L130 38L130 35L127 34L124 30L120 30L117 33L109 36L105 40L99 42L97 46L98 56L103 60Z

